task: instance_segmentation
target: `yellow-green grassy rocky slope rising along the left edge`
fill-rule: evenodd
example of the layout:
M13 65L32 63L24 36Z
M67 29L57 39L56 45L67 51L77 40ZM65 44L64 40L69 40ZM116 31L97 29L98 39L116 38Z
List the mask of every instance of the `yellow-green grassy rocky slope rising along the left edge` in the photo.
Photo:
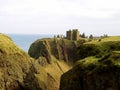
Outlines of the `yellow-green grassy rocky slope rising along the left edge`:
M34 78L35 72L32 70L34 67L31 61L11 38L0 34L0 90L41 89ZM27 85L31 81L33 83Z

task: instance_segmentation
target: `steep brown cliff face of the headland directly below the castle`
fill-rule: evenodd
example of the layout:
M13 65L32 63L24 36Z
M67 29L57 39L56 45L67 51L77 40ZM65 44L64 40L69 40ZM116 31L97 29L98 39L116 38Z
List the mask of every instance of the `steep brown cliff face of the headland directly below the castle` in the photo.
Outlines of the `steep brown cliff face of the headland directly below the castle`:
M28 51L33 58L44 57L51 63L51 56L66 62L76 59L76 45L74 41L65 39L40 39L35 41Z

